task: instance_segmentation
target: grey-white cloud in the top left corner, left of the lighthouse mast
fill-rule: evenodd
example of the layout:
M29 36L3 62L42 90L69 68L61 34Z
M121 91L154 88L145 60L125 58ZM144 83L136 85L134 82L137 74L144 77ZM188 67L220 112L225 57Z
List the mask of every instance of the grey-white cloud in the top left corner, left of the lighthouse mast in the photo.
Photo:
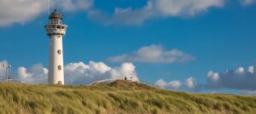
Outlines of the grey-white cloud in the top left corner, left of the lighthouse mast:
M47 9L45 0L1 0L0 26L12 23L25 23L33 20L38 14Z

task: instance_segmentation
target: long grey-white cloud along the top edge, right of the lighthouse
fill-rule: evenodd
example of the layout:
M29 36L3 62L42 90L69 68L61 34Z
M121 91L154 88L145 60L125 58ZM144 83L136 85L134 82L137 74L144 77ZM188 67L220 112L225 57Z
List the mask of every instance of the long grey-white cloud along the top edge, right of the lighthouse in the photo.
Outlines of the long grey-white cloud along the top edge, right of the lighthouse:
M222 6L224 0L148 0L148 3L140 9L116 8L112 15L95 9L89 13L89 17L107 25L141 25L145 20L153 18L194 16L210 8Z

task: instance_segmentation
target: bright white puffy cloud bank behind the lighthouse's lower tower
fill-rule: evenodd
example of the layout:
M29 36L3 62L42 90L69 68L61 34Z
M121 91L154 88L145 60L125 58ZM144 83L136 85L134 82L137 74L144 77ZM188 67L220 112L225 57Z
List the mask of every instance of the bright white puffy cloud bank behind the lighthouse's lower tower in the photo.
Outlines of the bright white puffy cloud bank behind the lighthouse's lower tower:
M90 84L102 80L125 79L125 77L131 81L139 81L136 66L132 63L123 63L121 66L111 68L103 62L90 61L88 65L77 62L67 64L64 69L65 83ZM30 68L21 66L17 72L21 83L47 83L48 69L41 64Z

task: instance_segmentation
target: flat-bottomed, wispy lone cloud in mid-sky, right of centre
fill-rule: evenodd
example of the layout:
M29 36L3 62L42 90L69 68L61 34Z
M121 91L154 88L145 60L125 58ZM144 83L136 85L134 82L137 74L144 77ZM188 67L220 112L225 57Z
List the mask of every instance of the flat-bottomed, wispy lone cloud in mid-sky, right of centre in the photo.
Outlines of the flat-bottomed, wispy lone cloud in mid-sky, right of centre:
M195 57L185 54L180 50L165 50L160 45L150 45L139 48L131 54L122 54L108 59L112 62L143 62L143 63L166 63L186 62L195 60Z

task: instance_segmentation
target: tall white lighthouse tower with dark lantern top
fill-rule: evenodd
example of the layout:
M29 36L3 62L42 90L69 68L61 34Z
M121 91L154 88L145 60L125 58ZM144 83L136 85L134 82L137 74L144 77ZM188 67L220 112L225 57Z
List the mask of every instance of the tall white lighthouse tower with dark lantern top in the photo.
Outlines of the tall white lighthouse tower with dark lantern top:
M62 24L62 19L62 14L55 9L45 26L49 36L49 84L64 85L62 37L66 34L67 26Z

